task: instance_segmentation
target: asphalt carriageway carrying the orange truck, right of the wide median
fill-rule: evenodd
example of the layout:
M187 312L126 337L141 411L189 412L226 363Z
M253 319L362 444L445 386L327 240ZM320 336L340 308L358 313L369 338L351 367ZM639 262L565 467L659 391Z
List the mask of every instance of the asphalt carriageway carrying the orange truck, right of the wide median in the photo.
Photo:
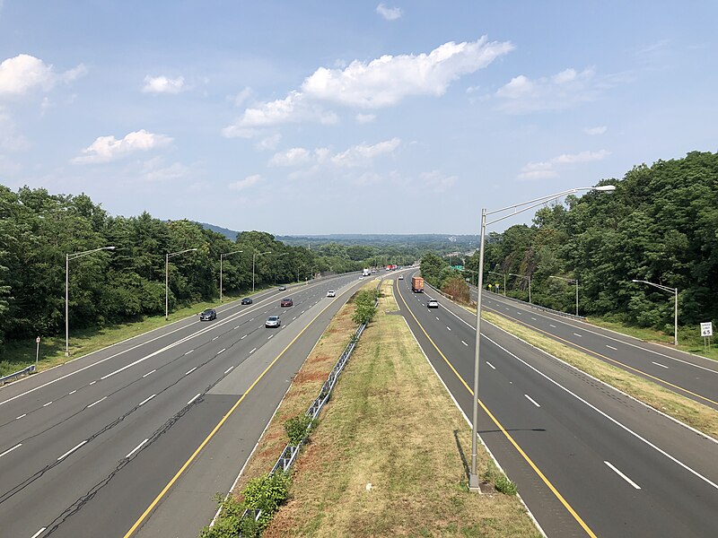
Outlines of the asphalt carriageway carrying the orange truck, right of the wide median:
M430 289L413 293L408 278L395 283L401 313L470 417L476 317ZM440 308L426 308L428 296ZM718 535L714 439L494 325L481 337L479 435L548 536Z

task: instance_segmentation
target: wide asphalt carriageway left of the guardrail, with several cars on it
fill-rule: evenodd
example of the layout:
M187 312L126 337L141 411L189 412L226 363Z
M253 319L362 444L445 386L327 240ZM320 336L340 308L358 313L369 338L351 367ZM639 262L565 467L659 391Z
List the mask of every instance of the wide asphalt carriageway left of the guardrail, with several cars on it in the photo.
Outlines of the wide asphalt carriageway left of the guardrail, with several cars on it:
M261 292L5 386L0 535L196 537L361 284L352 273Z

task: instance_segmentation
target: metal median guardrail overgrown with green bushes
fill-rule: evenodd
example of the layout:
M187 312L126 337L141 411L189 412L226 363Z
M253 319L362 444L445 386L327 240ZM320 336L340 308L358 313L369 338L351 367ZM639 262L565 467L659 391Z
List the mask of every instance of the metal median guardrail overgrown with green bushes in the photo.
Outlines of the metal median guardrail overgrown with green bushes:
M205 527L199 538L257 538L267 528L272 517L289 495L289 472L299 451L309 438L311 430L316 427L321 409L329 401L329 396L337 385L339 374L346 366L352 351L355 350L366 325L376 314L380 286L381 281L375 291L359 291L355 294L355 314L352 319L359 326L307 412L285 422L289 443L276 460L272 470L267 476L253 478L247 483L242 490L244 497L242 502L234 499L231 494L225 499L219 497L217 502L221 516L217 518L215 525ZM358 312L361 314L357 315Z

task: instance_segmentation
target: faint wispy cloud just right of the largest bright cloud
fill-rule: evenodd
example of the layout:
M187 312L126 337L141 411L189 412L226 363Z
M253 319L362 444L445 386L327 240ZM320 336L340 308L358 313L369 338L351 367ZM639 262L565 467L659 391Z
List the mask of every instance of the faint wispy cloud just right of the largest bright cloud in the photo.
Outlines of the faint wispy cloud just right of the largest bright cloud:
M531 80L520 74L495 92L500 100L499 110L509 114L524 114L539 110L573 108L584 102L598 100L601 91L616 80L597 77L593 69L577 72L565 69L552 76Z

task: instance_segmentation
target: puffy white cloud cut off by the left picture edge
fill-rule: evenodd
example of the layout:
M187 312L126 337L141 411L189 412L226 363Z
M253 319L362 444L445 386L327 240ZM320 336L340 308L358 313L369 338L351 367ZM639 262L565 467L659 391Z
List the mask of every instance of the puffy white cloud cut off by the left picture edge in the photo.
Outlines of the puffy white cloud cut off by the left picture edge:
M34 88L49 91L57 82L73 82L87 73L84 65L77 65L65 73L57 74L35 56L20 54L0 64L0 95L22 95Z

